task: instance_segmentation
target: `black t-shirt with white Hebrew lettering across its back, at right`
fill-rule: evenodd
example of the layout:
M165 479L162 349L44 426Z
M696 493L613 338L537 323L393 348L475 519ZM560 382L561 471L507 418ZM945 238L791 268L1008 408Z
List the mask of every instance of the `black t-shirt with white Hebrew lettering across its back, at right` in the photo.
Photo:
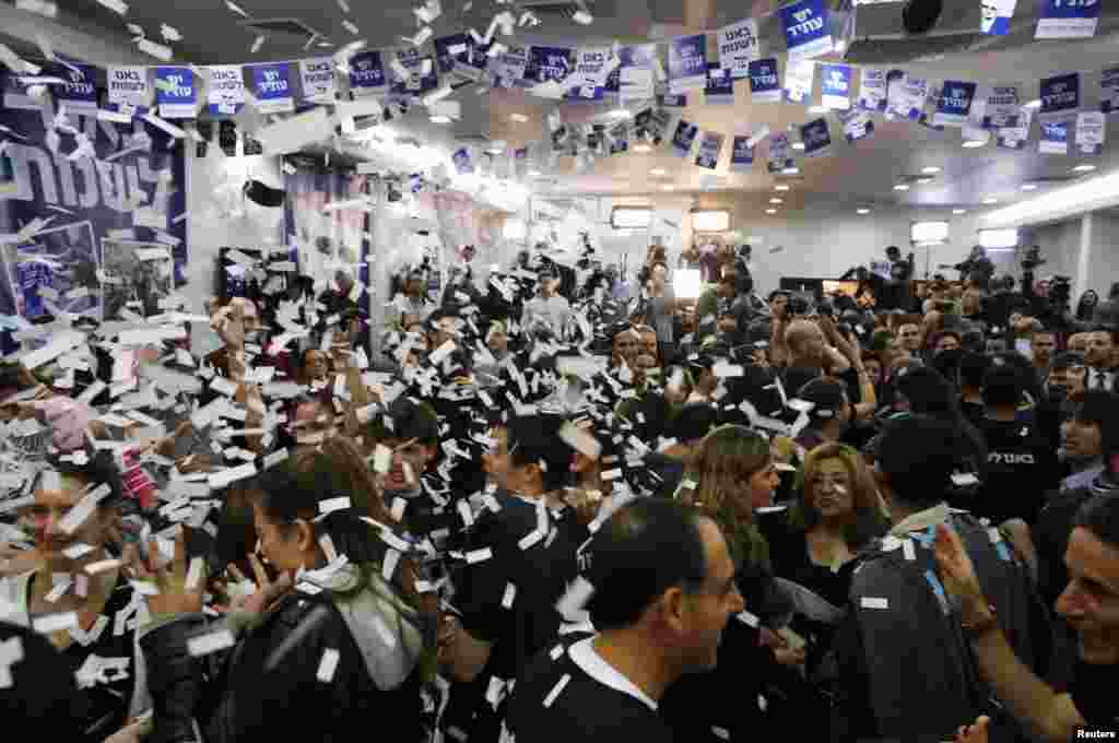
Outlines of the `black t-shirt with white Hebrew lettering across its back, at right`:
M993 524L1009 518L1033 524L1045 491L1056 485L1056 452L1032 422L985 418L980 430L987 438L987 462L971 512Z

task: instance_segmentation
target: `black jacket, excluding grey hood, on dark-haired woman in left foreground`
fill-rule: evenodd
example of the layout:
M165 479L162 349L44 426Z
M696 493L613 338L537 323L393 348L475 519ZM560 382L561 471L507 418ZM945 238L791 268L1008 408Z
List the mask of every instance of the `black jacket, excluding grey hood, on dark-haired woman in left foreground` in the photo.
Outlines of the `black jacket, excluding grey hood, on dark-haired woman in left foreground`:
M342 741L394 723L404 726L401 740L417 740L419 673L396 689L378 689L326 595L288 594L233 648L200 658L189 655L187 640L217 629L205 620L184 619L145 634L140 647L156 723L150 741L196 741L192 720L206 743ZM338 662L322 681L328 650L338 651Z

